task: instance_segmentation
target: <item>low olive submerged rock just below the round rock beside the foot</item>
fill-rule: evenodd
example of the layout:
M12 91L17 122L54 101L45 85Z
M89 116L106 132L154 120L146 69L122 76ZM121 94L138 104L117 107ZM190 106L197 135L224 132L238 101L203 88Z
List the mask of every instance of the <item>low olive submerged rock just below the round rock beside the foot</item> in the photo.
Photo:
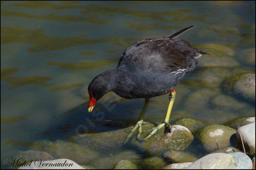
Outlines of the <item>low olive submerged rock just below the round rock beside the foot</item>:
M183 151L168 151L164 152L164 157L170 159L171 162L195 162L197 160L196 156L189 152Z

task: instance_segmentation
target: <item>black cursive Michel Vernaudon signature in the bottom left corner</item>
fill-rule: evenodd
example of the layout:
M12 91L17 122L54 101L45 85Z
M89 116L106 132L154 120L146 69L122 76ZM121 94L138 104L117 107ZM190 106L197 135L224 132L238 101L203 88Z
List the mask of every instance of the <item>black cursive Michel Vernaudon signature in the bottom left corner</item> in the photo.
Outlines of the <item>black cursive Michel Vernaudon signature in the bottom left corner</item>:
M47 158L47 159L51 159L51 158ZM38 159L36 159L35 161L33 161L33 160L31 160L30 162L27 162L26 160L24 160L24 159L22 159L22 158L20 158L20 159L12 159L12 158L10 158L10 159L8 159L8 163L9 163L9 165L7 164L6 166L7 167L10 167L10 166L12 166L12 167L14 167L14 166L31 166L31 165L35 165L35 166L37 166L37 167L42 167L42 166L44 166L44 167L50 167L50 166L73 166L73 163L68 163L67 162L67 160L65 160L65 162L63 162L63 163L60 163L60 162L56 162L56 163L52 163L52 162L49 162L49 161L47 161L47 159L45 159L45 160L42 160L42 159L40 159L40 158L38 158Z

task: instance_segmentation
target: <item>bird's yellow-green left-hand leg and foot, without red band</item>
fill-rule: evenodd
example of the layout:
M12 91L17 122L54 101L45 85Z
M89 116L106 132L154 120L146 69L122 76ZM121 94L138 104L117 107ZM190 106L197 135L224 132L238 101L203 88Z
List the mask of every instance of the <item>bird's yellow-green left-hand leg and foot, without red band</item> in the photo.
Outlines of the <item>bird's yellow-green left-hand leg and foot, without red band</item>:
M144 106L140 112L140 116L138 118L138 122L134 125L134 128L130 131L130 133L127 135L124 144L128 142L128 140L131 138L132 134L134 131L136 131L138 129L138 135L137 135L137 139L140 140L140 134L142 133L142 125L143 124L148 124L147 122L143 122L143 117L144 114L146 112L146 109L148 107L148 103L149 103L149 99L145 99L145 103Z

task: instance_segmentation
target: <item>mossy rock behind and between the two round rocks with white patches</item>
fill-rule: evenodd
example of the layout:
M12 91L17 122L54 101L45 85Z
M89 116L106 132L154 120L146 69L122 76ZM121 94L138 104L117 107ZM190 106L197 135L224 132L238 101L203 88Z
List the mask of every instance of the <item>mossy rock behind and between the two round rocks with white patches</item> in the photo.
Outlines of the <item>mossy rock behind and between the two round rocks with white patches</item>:
M197 131L199 128L204 127L205 124L198 119L192 119L192 118L182 118L176 121L177 125L185 126L188 128L191 133L194 133Z

